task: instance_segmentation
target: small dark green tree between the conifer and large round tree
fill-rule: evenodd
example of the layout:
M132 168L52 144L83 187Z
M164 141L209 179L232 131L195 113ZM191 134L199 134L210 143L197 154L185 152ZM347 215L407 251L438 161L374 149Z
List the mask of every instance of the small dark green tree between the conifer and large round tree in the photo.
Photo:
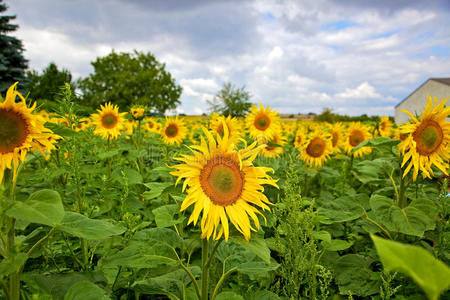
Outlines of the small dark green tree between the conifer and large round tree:
M27 72L27 78L26 89L30 93L30 99L45 99L54 102L64 84L66 82L71 83L72 74L66 69L59 71L56 64L51 62L42 72L42 75L32 70Z

